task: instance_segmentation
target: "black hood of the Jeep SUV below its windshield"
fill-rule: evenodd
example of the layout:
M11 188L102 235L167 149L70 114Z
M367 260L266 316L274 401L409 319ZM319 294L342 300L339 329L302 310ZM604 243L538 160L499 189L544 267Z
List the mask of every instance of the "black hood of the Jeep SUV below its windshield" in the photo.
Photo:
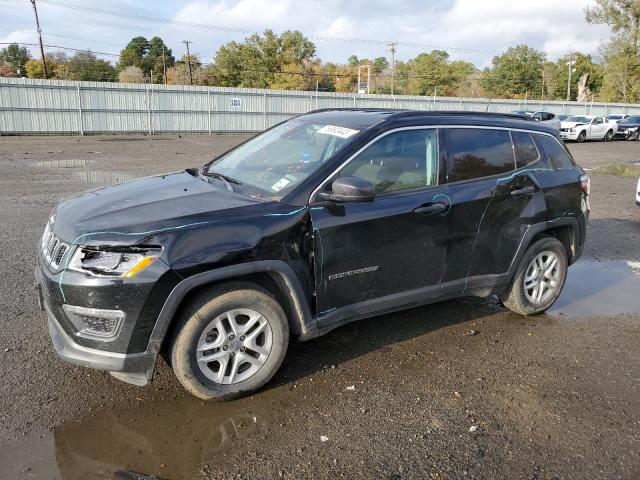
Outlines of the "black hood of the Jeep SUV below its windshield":
M275 203L275 202L270 202ZM183 172L144 177L83 193L56 209L54 231L63 241L103 244L118 238L131 243L149 232L184 228L214 216L241 215L267 204ZM79 241L79 237L82 238Z

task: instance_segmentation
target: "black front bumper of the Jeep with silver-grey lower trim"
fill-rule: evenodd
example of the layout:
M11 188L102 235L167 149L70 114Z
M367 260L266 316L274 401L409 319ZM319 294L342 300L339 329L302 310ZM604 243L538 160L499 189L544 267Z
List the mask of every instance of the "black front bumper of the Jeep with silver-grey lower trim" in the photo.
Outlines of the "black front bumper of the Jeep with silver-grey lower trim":
M157 348L149 346L150 332L168 292L172 273L154 262L134 279L96 279L79 272L54 272L38 256L35 280L38 300L58 356L69 363L108 370L115 377L145 385L153 377ZM165 293L166 292L166 293ZM126 312L118 335L107 341L83 337L70 322L63 304L89 308L118 308Z

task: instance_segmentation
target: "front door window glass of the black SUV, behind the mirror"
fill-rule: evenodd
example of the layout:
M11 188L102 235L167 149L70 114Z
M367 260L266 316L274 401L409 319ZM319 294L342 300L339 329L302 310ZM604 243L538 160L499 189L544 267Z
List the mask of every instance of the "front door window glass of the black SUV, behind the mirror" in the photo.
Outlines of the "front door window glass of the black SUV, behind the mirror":
M437 130L405 130L386 135L360 152L339 175L364 178L374 185L377 193L436 185Z

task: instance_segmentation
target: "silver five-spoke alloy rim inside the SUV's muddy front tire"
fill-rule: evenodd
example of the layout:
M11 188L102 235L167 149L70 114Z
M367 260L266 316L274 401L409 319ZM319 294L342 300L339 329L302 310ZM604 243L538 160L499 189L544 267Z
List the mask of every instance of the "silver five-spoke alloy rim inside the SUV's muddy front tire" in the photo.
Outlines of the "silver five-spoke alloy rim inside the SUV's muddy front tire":
M271 325L264 315L248 308L229 310L213 319L200 335L198 368L213 382L240 383L262 368L272 345Z

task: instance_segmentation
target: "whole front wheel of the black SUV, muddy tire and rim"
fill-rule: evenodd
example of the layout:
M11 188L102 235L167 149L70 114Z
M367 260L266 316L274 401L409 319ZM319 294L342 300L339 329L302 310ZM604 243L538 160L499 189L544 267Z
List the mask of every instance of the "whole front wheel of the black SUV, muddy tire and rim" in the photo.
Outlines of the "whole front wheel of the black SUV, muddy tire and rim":
M257 285L230 283L201 292L183 309L171 366L196 397L231 400L271 380L288 345L289 324L275 298Z

